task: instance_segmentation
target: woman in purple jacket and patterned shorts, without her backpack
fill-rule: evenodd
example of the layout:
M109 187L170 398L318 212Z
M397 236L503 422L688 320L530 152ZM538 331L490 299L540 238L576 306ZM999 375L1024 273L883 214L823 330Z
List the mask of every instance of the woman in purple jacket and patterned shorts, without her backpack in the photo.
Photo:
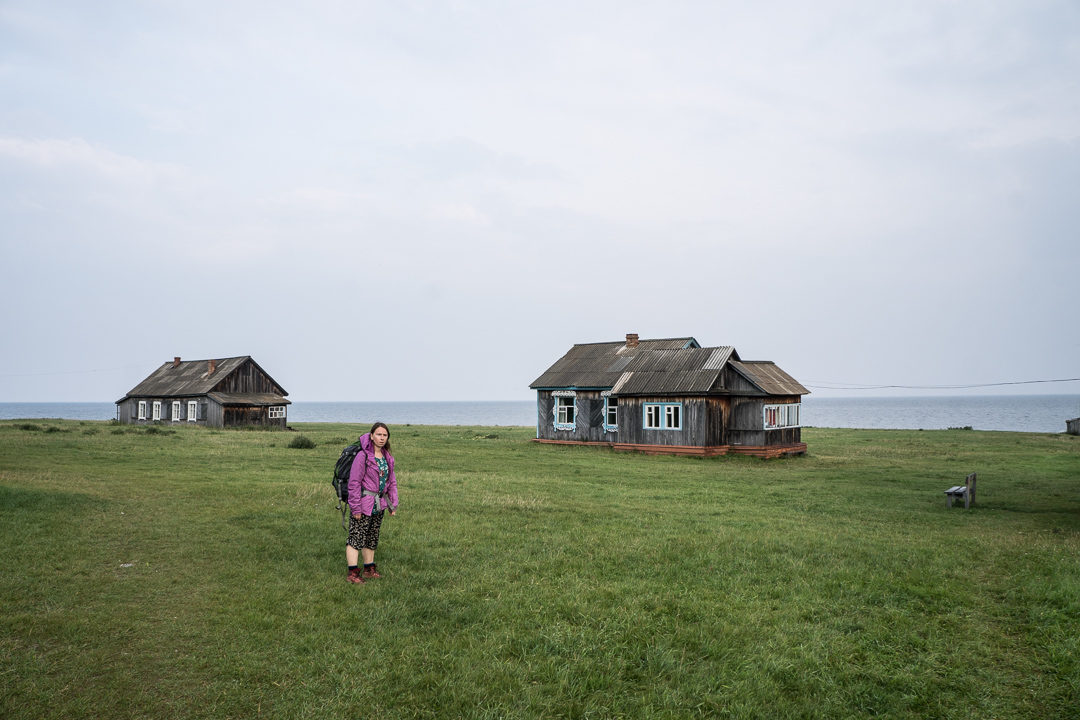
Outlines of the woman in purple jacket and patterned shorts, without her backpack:
M345 558L349 565L346 580L363 584L381 578L375 567L375 548L379 546L379 528L382 513L397 514L397 478L394 477L394 457L390 450L390 429L381 422L372 425L370 432L360 437L361 451L352 461L349 473L349 541ZM363 556L364 568L360 568Z

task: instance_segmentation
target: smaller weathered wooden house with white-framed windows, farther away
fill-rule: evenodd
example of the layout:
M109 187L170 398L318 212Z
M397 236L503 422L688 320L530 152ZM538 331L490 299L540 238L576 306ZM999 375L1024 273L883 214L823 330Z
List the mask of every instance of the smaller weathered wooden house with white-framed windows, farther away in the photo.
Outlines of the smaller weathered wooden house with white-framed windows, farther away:
M117 400L122 423L278 425L288 395L251 356L165 363Z

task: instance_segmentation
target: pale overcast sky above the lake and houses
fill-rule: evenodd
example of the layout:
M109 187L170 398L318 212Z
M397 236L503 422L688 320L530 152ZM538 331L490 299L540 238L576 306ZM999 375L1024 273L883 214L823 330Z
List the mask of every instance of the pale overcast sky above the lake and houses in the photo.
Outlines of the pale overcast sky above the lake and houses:
M1078 136L1075 0L0 0L0 402L528 399L627 332L1076 378Z

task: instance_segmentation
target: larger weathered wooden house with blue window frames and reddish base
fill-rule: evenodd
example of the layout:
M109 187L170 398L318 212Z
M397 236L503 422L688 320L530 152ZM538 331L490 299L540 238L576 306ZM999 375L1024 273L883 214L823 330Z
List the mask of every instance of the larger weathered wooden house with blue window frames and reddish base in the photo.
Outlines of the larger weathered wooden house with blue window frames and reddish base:
M806 452L806 388L773 363L693 338L573 345L532 382L537 440L774 458Z

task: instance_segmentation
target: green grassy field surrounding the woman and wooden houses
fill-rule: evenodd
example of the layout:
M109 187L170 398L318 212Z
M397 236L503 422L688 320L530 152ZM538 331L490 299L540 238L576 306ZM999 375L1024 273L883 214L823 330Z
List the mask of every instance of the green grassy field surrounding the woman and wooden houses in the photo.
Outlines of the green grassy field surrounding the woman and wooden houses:
M1080 438L397 425L354 586L329 475L363 429L297 427L0 423L0 717L1080 717Z

